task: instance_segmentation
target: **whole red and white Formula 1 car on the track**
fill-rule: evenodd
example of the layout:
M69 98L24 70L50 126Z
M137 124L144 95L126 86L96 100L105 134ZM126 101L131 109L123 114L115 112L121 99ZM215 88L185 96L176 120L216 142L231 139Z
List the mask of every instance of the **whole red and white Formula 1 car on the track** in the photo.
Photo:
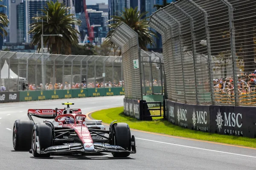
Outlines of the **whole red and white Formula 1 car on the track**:
M49 157L51 153L85 155L102 152L127 157L136 153L135 137L131 136L126 123L113 121L109 130L105 130L102 121L88 121L81 109L70 109L74 103L62 105L67 108L29 109L30 120L16 120L13 125L14 149L28 150L35 157ZM35 123L32 116L46 120Z

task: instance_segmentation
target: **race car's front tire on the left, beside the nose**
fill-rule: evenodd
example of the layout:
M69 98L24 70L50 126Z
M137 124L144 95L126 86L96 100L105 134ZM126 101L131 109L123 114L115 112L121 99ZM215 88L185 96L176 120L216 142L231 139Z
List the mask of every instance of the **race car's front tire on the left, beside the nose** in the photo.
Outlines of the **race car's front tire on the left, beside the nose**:
M38 136L38 138L37 138ZM39 139L39 140L38 140ZM35 157L49 157L50 153L40 154L38 153L38 146L40 146L40 150L46 149L47 147L52 146L52 127L45 123L37 123L34 125L32 130L32 154Z

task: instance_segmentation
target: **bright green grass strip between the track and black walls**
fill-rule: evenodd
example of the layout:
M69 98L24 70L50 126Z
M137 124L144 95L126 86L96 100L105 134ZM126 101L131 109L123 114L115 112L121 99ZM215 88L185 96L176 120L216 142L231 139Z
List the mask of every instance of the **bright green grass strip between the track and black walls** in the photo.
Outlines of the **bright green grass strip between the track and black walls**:
M138 121L133 117L126 116L123 113L123 107L96 111L91 116L93 119L102 120L102 122L108 124L113 120L125 122L130 128L137 130L256 148L256 139L190 130L173 125L159 117L153 118L153 121Z

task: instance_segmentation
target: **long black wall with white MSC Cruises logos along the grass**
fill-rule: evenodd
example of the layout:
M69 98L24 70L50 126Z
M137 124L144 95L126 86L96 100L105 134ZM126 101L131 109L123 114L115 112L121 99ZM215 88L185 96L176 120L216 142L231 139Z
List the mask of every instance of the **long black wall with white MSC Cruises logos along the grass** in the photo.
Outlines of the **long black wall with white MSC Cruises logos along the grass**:
M188 105L166 100L167 119L175 125L204 132L256 137L256 108Z

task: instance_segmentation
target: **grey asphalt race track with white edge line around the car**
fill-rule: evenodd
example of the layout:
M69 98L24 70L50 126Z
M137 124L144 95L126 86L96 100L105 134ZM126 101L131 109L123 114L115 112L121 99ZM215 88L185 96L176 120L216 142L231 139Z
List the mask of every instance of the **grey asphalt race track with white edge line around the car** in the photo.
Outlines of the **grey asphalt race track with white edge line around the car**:
M132 130L137 153L114 159L110 153L98 156L51 156L34 158L12 147L12 127L16 119L28 119L29 108L72 108L91 111L123 105L123 96L0 104L0 170L255 170L256 150L201 141L161 136Z

